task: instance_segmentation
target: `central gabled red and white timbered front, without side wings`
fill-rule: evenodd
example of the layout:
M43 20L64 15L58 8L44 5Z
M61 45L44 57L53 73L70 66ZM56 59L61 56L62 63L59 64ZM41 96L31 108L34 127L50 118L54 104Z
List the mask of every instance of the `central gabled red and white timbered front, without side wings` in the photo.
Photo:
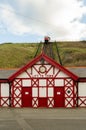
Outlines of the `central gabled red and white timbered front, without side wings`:
M44 64L41 64L44 59ZM39 62L40 61L40 62ZM39 62L39 63L38 63ZM39 66L38 66L39 65ZM40 67L42 68L40 69ZM30 71L28 70L30 68ZM56 70L57 68L57 70ZM55 72L56 70L56 72ZM20 74L26 77L16 79ZM60 77L60 72L67 75ZM30 87L23 86L23 80L30 79ZM56 87L55 79L62 79L61 87ZM65 69L63 66L46 56L44 53L37 56L27 65L19 69L9 77L9 81L14 82L12 87L12 103L14 107L73 107L76 103L76 92L74 92L74 81L78 77ZM44 84L42 82L44 80ZM44 85L44 86L43 86ZM38 88L38 94L32 97L32 88ZM46 96L40 96L41 87L46 88ZM48 88L53 88L53 93L49 94Z

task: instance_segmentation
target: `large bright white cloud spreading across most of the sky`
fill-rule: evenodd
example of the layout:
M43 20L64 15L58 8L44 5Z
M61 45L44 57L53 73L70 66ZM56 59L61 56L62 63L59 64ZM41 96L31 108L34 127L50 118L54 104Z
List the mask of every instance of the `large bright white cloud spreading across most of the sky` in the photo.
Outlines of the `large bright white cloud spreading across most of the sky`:
M15 13L10 5L3 5L1 20L12 33L50 35L56 40L80 40L86 35L86 14L83 0L15 0L19 8ZM11 12L9 11L11 10Z

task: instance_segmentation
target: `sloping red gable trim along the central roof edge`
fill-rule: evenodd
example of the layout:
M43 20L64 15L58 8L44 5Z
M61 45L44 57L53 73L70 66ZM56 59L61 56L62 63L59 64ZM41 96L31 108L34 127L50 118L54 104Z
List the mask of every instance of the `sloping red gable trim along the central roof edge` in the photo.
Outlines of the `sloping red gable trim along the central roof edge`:
M14 78L16 78L19 74L21 74L22 72L26 71L29 67L31 67L32 65L34 65L36 62L38 62L40 59L44 59L47 62L49 62L50 64L52 64L53 66L55 66L56 68L59 68L61 71L63 71L64 73L66 73L67 75L69 75L73 80L77 80L78 76L76 76L75 74L73 74L72 72L70 72L69 70L65 69L63 66L61 66L60 64L58 64L56 61L54 61L53 59L51 59L50 57L46 56L43 52L42 54L40 54L39 56L37 56L35 59L33 59L31 62L29 62L28 64L26 64L24 67L22 67L21 69L19 69L16 73L14 73L12 76L9 77L9 80L12 81Z

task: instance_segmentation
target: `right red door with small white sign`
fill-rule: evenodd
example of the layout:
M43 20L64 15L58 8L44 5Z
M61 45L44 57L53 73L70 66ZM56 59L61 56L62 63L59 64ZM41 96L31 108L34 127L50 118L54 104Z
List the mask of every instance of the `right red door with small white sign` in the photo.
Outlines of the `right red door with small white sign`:
M64 88L56 87L54 89L54 105L55 107L64 107Z

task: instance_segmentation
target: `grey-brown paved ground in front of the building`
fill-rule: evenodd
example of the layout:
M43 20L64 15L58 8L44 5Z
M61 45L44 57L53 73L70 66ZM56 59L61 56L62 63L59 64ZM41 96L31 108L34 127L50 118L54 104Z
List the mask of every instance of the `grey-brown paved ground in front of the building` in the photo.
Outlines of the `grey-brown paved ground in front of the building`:
M86 109L0 108L0 130L86 130Z

